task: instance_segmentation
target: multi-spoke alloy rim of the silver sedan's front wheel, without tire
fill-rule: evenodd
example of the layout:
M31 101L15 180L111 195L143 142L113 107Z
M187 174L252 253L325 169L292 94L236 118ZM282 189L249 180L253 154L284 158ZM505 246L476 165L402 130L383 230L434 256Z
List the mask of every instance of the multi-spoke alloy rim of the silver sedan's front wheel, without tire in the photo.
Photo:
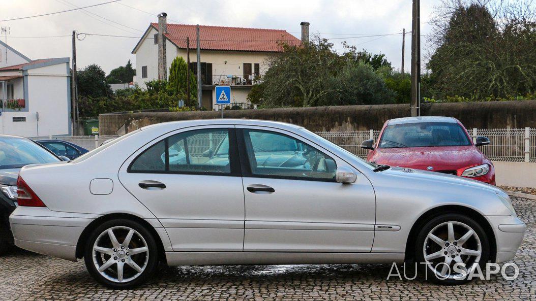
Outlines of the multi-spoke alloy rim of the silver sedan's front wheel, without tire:
M464 279L477 267L482 246L477 233L463 222L447 221L431 229L423 244L423 256L438 279ZM462 273L454 273L455 264Z

